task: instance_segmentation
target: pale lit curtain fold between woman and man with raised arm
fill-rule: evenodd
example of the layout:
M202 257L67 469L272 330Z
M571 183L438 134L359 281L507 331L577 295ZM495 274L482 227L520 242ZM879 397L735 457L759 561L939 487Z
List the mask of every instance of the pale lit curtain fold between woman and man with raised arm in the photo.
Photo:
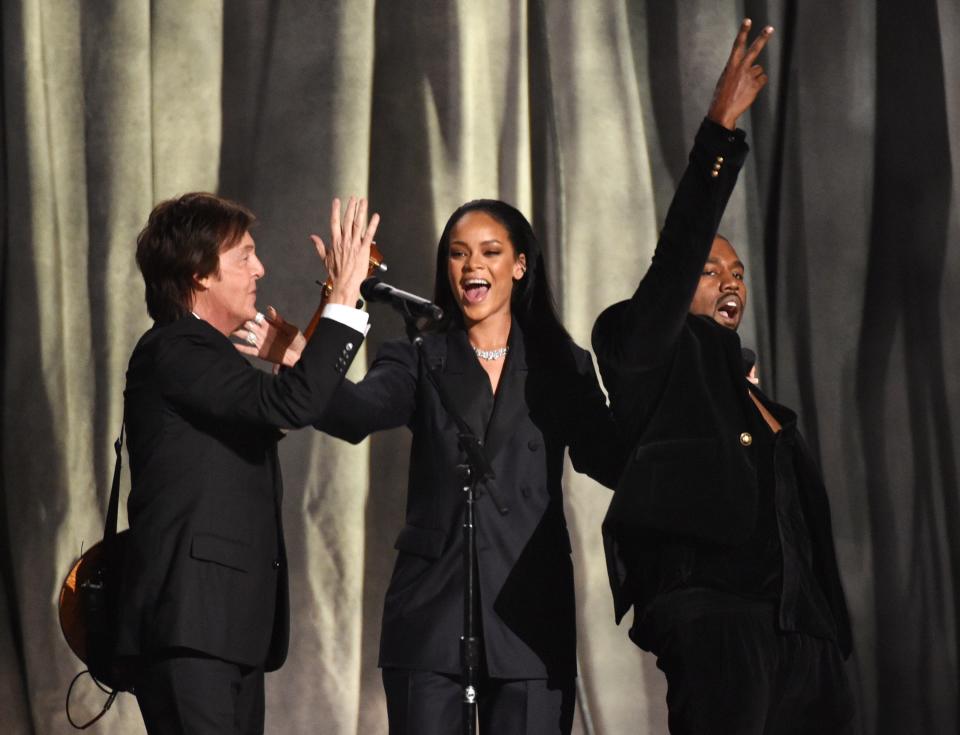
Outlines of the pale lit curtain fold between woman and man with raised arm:
M544 9L562 213L561 237L549 243L550 255L562 265L564 323L590 349L597 315L633 292L656 243L640 100L646 60L632 46L624 3L610 3L602 14L583 3L544 3ZM567 464L581 684L577 724L597 733L621 732L628 722L662 725L662 677L651 662L623 655L630 621L613 624L600 538L610 491Z

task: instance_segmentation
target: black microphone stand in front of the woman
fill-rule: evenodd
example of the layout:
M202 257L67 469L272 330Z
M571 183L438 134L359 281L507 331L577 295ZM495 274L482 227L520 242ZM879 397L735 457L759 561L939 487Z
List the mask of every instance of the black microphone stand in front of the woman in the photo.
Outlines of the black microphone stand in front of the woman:
M463 733L475 735L477 728L477 684L480 674L481 639L477 629L476 601L479 600L478 581L476 575L477 546L474 507L476 504L477 483L494 478L493 469L480 441L471 431L470 426L457 412L450 395L443 383L437 377L436 368L427 360L423 346L423 335L417 326L417 318L410 310L395 304L403 315L407 327L407 337L416 346L420 362L426 368L427 379L440 396L440 403L457 426L457 437L460 448L467 456L465 464L458 465L462 492L463 508L463 635L460 637L460 667L463 686ZM490 499L501 514L508 509L501 505L492 489L488 488Z

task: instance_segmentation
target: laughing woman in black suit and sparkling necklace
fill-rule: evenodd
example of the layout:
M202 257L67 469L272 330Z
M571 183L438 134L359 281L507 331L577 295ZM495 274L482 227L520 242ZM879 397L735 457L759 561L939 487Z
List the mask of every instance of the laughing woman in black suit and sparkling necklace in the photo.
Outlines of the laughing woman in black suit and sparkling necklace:
M569 448L578 471L612 486L619 440L590 354L557 318L539 243L514 207L477 200L453 213L437 249L434 299L445 317L425 337L425 361L483 441L495 475L478 488L475 509L480 732L569 733L576 629L563 452ZM404 340L384 344L362 381L344 381L317 425L354 443L397 426L413 433L406 525L380 640L392 735L461 727L456 467L465 457L428 365Z

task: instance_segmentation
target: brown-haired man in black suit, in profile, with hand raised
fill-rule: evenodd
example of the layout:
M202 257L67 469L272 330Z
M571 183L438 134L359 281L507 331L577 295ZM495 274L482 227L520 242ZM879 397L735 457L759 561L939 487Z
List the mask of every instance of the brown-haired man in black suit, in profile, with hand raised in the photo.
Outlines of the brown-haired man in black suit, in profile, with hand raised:
M125 392L132 489L118 654L151 735L262 733L263 674L283 663L289 610L280 428L320 418L367 329L354 308L378 216L353 199L317 249L335 279L297 365L278 376L230 342L260 318L253 215L211 194L158 205L137 240L154 326Z

